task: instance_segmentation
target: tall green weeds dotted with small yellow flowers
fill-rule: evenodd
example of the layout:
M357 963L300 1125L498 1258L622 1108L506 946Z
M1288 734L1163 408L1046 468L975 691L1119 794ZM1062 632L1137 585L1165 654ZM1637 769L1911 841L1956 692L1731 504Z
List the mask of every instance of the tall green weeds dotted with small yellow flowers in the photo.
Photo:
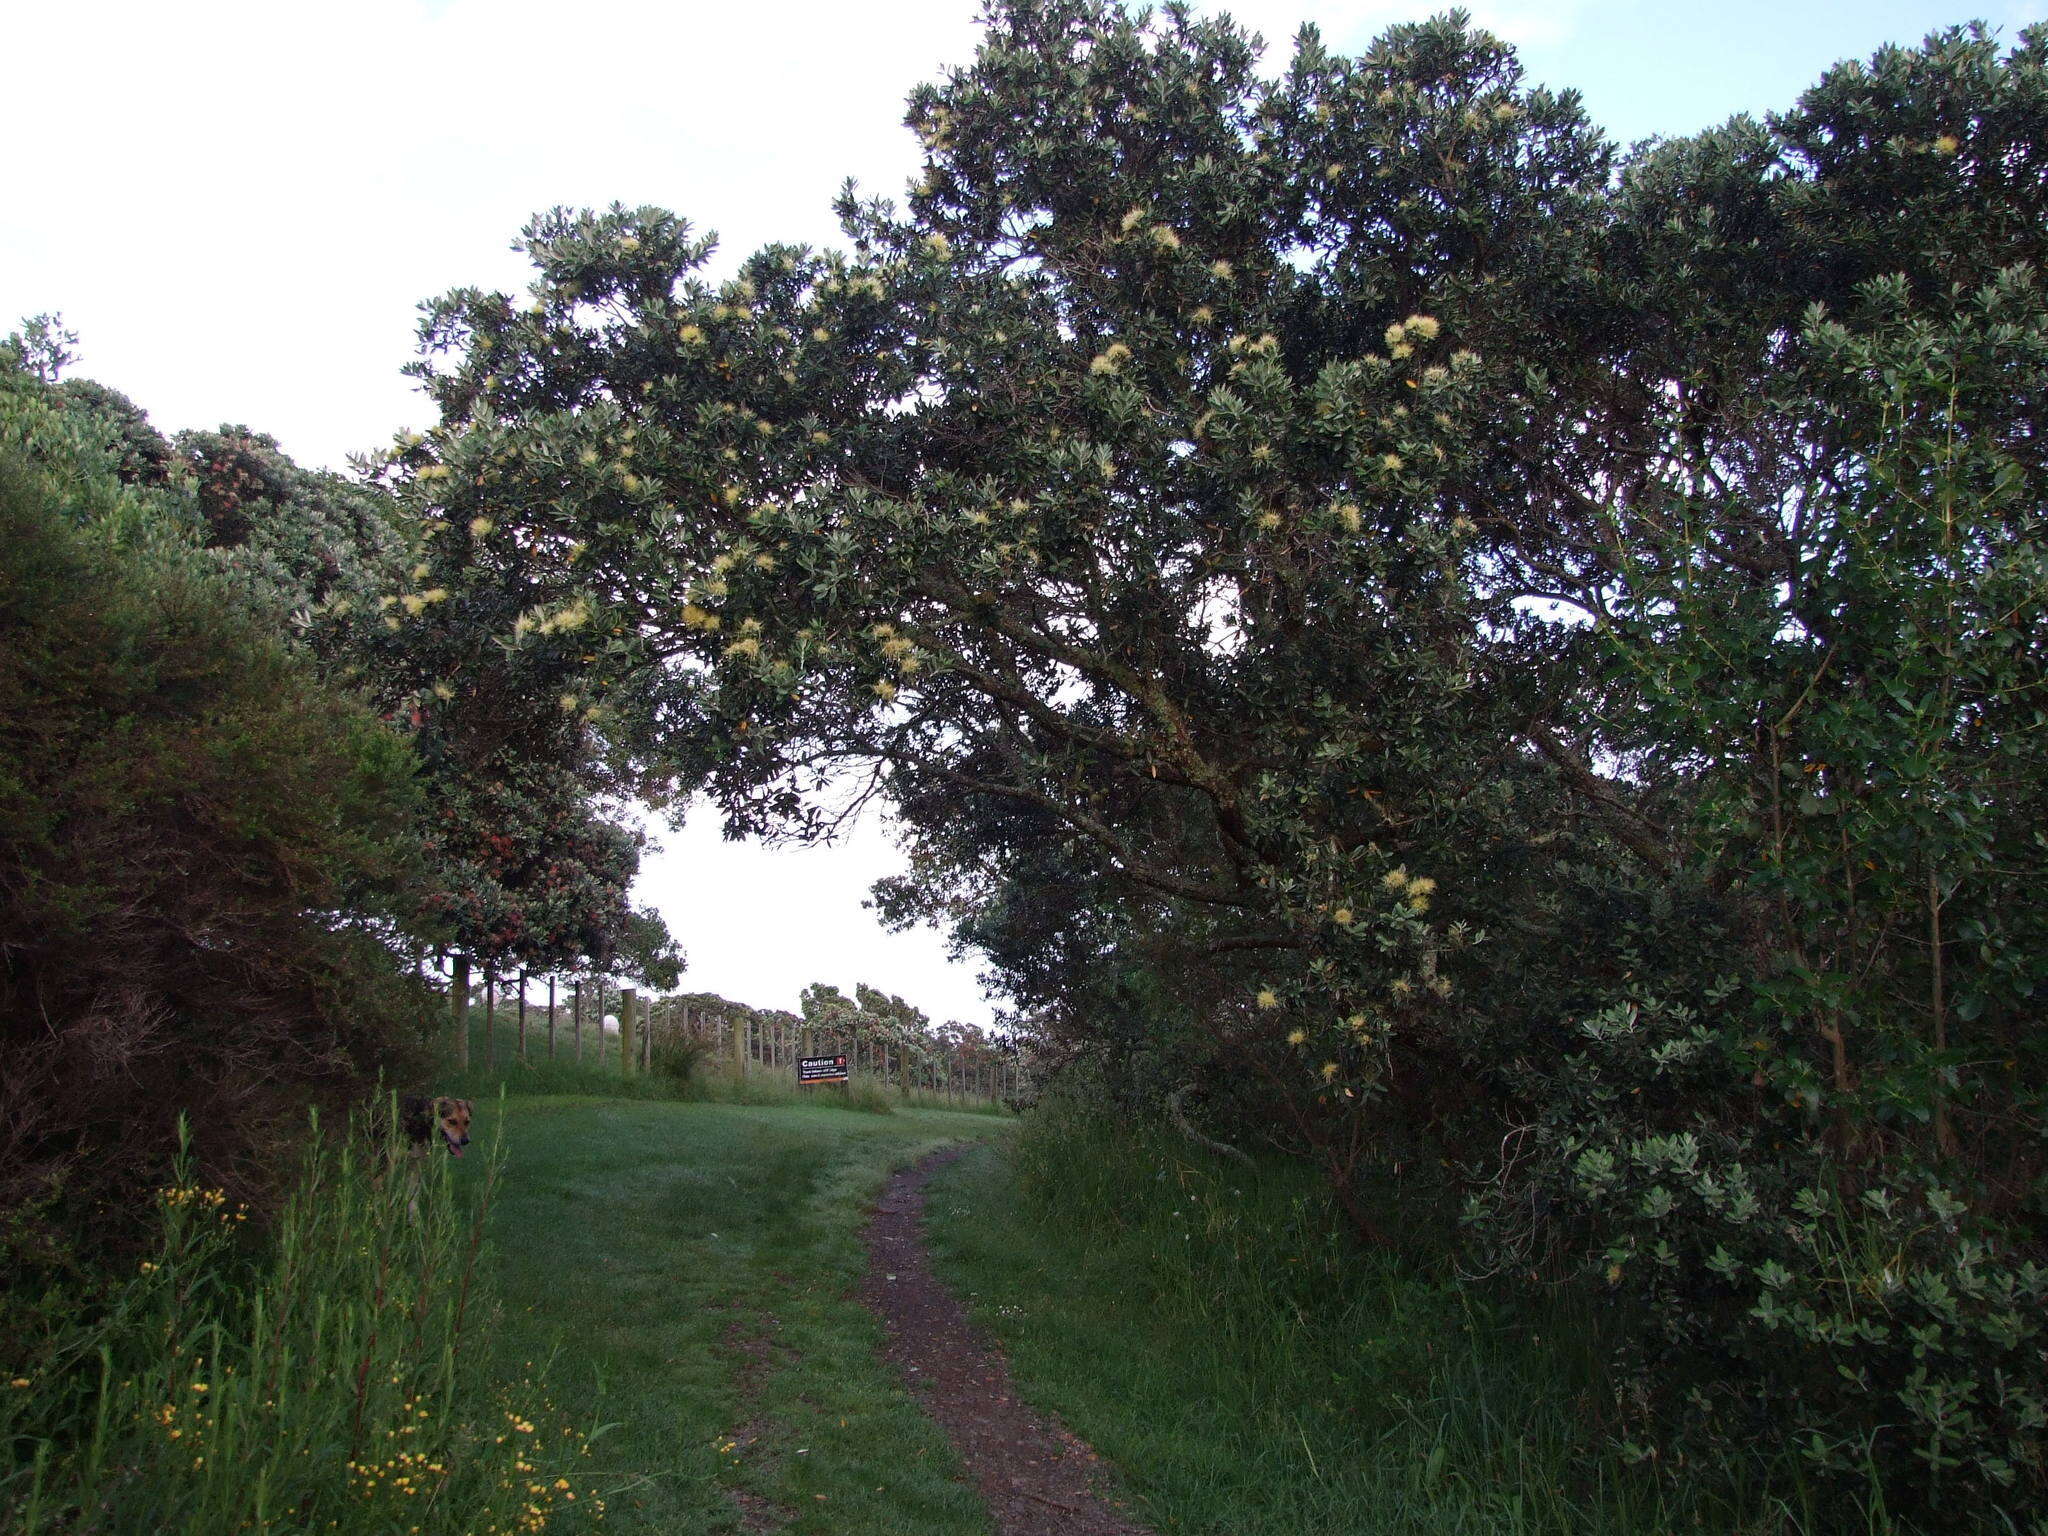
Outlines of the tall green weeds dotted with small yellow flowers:
M385 1116L391 1120L395 1116ZM502 1149L457 1192L449 1157L309 1137L274 1231L190 1180L158 1196L154 1257L92 1319L29 1350L0 1391L0 1526L530 1536L602 1503L582 1436L535 1380L487 1368L479 1249ZM256 1251L242 1251L254 1247Z

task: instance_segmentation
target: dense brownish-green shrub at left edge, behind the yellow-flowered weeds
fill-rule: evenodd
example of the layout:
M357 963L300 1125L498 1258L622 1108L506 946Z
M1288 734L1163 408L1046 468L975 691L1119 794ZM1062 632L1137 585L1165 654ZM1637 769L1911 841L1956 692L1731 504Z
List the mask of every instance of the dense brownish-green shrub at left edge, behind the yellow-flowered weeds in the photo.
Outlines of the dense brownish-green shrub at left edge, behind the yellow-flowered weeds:
M406 745L90 461L0 444L0 1212L117 1237L186 1112L264 1202L309 1102L408 1073ZM33 1212L33 1219L31 1219Z

